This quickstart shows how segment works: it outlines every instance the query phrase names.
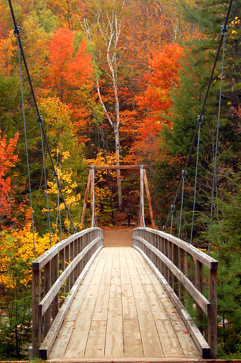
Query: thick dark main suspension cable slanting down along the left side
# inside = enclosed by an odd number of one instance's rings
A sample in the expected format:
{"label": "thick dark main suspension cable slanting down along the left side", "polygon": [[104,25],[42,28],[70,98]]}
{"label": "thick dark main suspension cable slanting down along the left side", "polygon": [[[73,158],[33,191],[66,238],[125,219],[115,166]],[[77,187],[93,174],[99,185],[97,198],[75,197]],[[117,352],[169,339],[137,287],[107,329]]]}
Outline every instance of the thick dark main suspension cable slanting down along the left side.
{"label": "thick dark main suspension cable slanting down along the left side", "polygon": [[[14,21],[14,30],[15,31],[18,31],[18,26],[17,26],[17,23],[16,23],[16,19],[15,19],[15,16],[14,16],[14,9],[13,9],[13,6],[11,4],[11,0],[9,0],[9,6],[10,6],[10,10],[11,10],[11,16],[12,16],[12,19]],[[20,37],[18,38],[19,39],[19,47],[21,49],[21,55],[22,55],[22,58],[23,58],[23,61],[24,61],[24,66],[25,66],[25,69],[26,69],[26,73],[27,73],[27,76],[28,76],[28,80],[29,80],[29,86],[31,88],[31,93],[32,93],[32,96],[33,96],[33,99],[34,99],[34,105],[35,105],[35,108],[36,108],[36,112],[37,112],[37,120],[39,122],[39,125],[41,126],[41,129],[42,129],[42,132],[43,132],[43,139],[44,139],[44,142],[46,143],[46,148],[48,150],[48,155],[49,155],[49,158],[51,160],[51,165],[52,165],[52,168],[53,168],[53,173],[56,173],[56,169],[55,169],[55,166],[54,166],[54,163],[53,163],[53,158],[52,158],[52,155],[51,155],[51,150],[49,148],[49,145],[48,145],[48,140],[46,138],[46,133],[44,131],[44,128],[43,128],[43,117],[40,115],[39,113],[39,107],[38,107],[38,104],[36,102],[36,97],[35,97],[35,93],[34,93],[34,88],[33,88],[33,85],[32,85],[32,82],[31,82],[31,77],[30,77],[30,74],[29,74],[29,68],[28,68],[28,65],[26,63],[26,58],[25,58],[25,55],[24,55],[24,48],[21,44],[21,39]],[[66,200],[64,198],[64,195],[63,195],[63,191],[61,189],[61,184],[58,180],[58,178],[56,179],[57,180],[57,183],[58,183],[58,189],[60,190],[61,192],[61,197],[63,198],[63,203],[66,207]],[[76,232],[76,227],[75,225],[73,225],[73,220],[71,218],[71,215],[68,211],[68,217],[70,218],[71,220],[71,224],[73,226],[73,231]]]}

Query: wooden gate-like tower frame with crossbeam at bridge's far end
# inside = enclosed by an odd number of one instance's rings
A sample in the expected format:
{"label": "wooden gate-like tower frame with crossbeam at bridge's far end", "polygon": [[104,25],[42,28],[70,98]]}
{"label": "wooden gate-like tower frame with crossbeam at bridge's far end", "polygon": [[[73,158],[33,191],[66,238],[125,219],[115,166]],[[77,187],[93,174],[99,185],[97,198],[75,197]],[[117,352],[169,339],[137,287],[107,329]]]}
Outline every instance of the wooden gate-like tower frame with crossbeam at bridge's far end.
{"label": "wooden gate-like tower frame with crossbeam at bridge's far end", "polygon": [[[148,198],[148,206],[149,206],[149,212],[150,212],[150,220],[151,225],[153,229],[155,229],[155,222],[153,219],[153,208],[150,201],[150,192],[148,188],[148,179],[146,177],[145,173],[145,165],[91,165],[88,166],[89,172],[88,172],[88,181],[86,185],[86,195],[85,200],[83,202],[83,212],[81,217],[81,224],[83,225],[83,220],[86,215],[86,207],[87,207],[87,201],[88,201],[88,193],[91,187],[91,210],[93,211],[93,204],[94,204],[94,170],[140,170],[140,205],[144,206],[144,188],[143,183],[145,184],[145,192]],[[91,217],[91,226],[93,227],[93,219],[94,219],[94,213],[92,213]],[[140,208],[140,227],[145,227],[144,222],[144,208]]]}

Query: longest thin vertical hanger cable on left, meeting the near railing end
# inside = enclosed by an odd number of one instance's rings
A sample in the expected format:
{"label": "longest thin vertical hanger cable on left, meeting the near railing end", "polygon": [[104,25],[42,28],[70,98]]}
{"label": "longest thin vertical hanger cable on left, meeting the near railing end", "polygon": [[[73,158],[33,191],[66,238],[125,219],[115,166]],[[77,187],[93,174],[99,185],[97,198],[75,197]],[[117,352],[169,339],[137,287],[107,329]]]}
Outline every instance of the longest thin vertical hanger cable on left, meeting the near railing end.
{"label": "longest thin vertical hanger cable on left, meeting the near railing end", "polygon": [[18,43],[18,54],[19,54],[19,75],[20,75],[20,84],[21,84],[21,101],[23,108],[23,118],[24,118],[24,136],[25,136],[25,148],[26,148],[26,162],[29,176],[29,196],[30,196],[30,206],[31,206],[31,226],[32,226],[32,234],[34,240],[34,257],[36,258],[36,246],[35,246],[35,237],[34,237],[34,213],[33,213],[33,203],[32,203],[32,193],[31,193],[31,179],[30,179],[30,171],[29,171],[29,153],[28,153],[28,143],[27,143],[27,134],[26,134],[26,122],[25,122],[25,112],[24,112],[24,90],[23,90],[23,81],[22,81],[22,73],[21,73],[21,59],[20,59],[20,51],[19,51],[19,36],[20,36],[20,27],[18,26],[14,29],[14,35],[16,36]]}

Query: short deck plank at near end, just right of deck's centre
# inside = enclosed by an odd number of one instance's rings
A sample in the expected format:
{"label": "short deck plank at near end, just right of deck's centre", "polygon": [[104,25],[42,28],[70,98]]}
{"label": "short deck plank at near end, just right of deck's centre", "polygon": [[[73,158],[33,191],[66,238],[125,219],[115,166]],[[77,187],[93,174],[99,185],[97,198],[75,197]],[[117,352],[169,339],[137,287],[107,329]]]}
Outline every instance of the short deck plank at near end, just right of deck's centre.
{"label": "short deck plank at near end, just right of deck's centre", "polygon": [[139,322],[137,319],[123,320],[123,339],[125,357],[144,357]]}

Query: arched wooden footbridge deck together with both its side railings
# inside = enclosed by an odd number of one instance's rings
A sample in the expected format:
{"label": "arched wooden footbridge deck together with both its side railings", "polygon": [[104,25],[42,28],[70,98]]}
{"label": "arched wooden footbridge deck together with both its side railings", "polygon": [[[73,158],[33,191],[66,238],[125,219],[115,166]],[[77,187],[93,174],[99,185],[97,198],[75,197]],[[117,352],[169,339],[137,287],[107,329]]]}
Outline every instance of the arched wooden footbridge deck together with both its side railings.
{"label": "arched wooden footbridge deck together with both its side railings", "polygon": [[[133,230],[132,247],[104,247],[103,237],[101,228],[88,228],[32,262],[33,356],[54,362],[215,359],[217,261],[148,227]],[[207,315],[208,344],[185,310],[188,296],[197,315]]]}

